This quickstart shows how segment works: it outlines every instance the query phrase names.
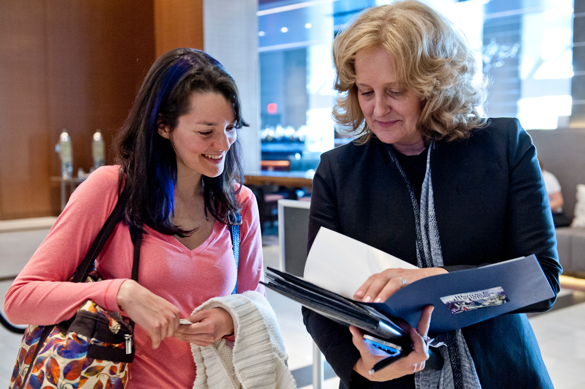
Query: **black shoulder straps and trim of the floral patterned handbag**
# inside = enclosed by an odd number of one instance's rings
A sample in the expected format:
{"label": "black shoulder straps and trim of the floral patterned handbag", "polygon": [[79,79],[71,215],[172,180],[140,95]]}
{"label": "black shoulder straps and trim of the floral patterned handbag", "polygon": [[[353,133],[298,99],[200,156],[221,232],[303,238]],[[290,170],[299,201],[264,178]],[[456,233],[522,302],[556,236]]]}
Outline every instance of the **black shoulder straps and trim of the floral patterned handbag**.
{"label": "black shoulder straps and trim of the floral patterned handbag", "polygon": [[[102,248],[104,248],[106,241],[108,241],[108,238],[110,237],[110,235],[112,235],[112,232],[116,227],[116,224],[118,224],[119,221],[122,220],[122,216],[124,214],[124,210],[126,207],[126,202],[128,201],[128,196],[129,192],[126,187],[118,197],[118,202],[116,203],[116,206],[114,207],[112,213],[106,219],[104,227],[102,227],[102,229],[99,230],[98,236],[95,238],[94,242],[90,246],[90,249],[85,255],[85,258],[77,266],[77,269],[75,269],[75,273],[73,273],[73,279],[71,280],[71,282],[84,282],[87,279],[87,276],[90,274],[91,270],[94,269],[95,259],[98,258],[99,252],[102,251]],[[132,238],[132,243],[134,244],[132,279],[137,281],[138,265],[140,259],[140,244],[142,243],[142,231],[135,234],[135,236]],[[66,320],[64,321],[64,323],[68,321],[69,320]],[[35,353],[33,354],[32,357],[33,361],[39,354],[39,351],[42,348],[44,341],[46,341],[47,336],[49,336],[49,334],[51,333],[51,331],[53,331],[53,328],[55,328],[56,325],[59,324],[46,325],[43,328],[43,332],[40,335],[39,342],[37,342]],[[134,323],[132,321],[130,321],[130,326],[132,327],[132,329],[134,328]],[[30,370],[32,369],[29,369],[29,371],[26,372],[26,376],[23,379],[23,383],[26,383]]]}

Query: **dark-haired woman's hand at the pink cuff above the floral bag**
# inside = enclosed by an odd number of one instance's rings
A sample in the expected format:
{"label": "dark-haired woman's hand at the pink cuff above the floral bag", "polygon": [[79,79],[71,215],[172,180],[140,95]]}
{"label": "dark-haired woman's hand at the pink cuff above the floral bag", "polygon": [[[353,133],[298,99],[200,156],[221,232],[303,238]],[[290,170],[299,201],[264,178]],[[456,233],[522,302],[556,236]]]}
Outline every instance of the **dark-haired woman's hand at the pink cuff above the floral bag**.
{"label": "dark-haired woman's hand at the pink cuff above the floral bag", "polygon": [[179,327],[178,308],[134,280],[122,283],[116,301],[130,319],[148,332],[153,349]]}

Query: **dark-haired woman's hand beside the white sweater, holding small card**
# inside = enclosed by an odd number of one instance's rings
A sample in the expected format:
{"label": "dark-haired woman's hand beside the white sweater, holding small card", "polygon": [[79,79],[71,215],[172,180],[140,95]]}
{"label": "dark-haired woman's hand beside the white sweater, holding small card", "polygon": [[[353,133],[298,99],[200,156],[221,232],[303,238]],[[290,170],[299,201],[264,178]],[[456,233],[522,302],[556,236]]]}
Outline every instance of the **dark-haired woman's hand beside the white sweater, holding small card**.
{"label": "dark-haired woman's hand beside the white sweater, holding small card", "polygon": [[195,312],[186,317],[193,324],[181,324],[174,332],[173,338],[180,341],[195,343],[198,346],[209,346],[211,343],[233,334],[233,320],[228,311],[222,308],[209,308]]}

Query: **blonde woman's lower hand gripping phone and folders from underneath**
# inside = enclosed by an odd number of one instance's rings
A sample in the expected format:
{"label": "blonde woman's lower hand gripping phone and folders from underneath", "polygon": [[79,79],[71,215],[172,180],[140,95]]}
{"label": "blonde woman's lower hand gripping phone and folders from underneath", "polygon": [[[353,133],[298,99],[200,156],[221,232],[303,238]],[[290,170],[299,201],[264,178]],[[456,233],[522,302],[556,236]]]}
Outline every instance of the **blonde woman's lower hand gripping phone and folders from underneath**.
{"label": "blonde woman's lower hand gripping phone and folders from underneath", "polygon": [[428,331],[429,325],[431,324],[433,308],[432,305],[428,305],[422,310],[417,329],[409,327],[409,334],[414,350],[407,356],[398,359],[396,362],[390,364],[390,366],[384,367],[384,369],[376,371],[374,374],[369,373],[370,369],[376,362],[386,358],[388,354],[366,343],[362,332],[358,328],[353,326],[349,327],[349,331],[353,335],[353,344],[361,355],[353,370],[370,381],[388,381],[424,369],[426,360],[429,359]]}

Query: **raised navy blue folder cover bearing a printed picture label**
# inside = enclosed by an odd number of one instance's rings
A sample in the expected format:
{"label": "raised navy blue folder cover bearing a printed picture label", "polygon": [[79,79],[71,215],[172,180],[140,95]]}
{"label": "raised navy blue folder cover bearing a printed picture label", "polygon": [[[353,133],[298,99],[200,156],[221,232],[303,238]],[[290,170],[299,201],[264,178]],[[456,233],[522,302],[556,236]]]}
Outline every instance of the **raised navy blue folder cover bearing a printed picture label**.
{"label": "raised navy blue folder cover bearing a printed picture label", "polygon": [[[486,290],[500,289],[500,304],[490,301],[446,299],[448,296],[471,296]],[[505,298],[501,297],[504,296]],[[369,303],[389,317],[400,318],[417,327],[422,309],[433,305],[429,336],[524,308],[555,296],[536,256],[510,259],[480,268],[457,270],[426,277],[394,293],[384,303]],[[443,301],[441,298],[450,301]],[[467,303],[467,304],[466,304]]]}

